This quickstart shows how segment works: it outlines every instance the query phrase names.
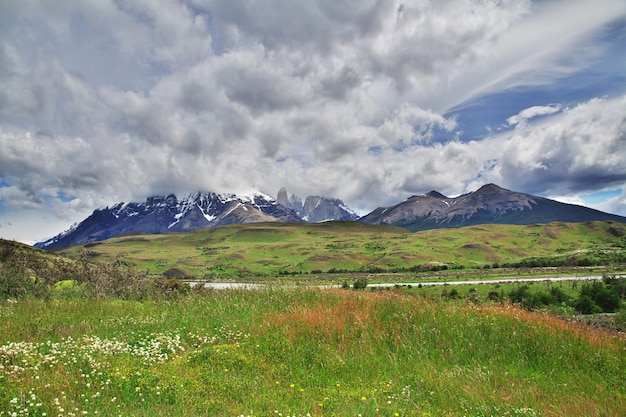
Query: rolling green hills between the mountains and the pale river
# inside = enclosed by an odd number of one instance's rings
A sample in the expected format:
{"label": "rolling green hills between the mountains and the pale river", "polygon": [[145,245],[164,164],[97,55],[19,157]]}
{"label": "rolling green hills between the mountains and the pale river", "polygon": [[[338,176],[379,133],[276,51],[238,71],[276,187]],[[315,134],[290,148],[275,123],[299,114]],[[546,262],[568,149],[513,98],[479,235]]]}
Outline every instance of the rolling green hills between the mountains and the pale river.
{"label": "rolling green hills between the mountains and the pale river", "polygon": [[523,260],[567,265],[626,263],[617,222],[481,225],[410,233],[355,222],[257,223],[164,235],[128,235],[65,248],[118,259],[150,274],[198,279],[322,272],[482,267]]}

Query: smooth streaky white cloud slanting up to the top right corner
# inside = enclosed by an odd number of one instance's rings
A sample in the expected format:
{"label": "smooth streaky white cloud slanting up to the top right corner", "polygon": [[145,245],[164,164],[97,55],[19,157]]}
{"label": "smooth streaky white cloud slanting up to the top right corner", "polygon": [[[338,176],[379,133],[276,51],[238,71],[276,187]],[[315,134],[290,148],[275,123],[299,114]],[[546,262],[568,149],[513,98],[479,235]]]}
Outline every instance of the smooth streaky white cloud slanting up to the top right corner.
{"label": "smooth streaky white cloud slanting up to the top right corner", "polygon": [[[526,3],[530,5],[530,3]],[[465,68],[439,100],[450,109],[494,91],[546,85],[597,59],[601,28],[626,17],[626,3],[606,0],[534,2],[525,18],[495,39],[482,65]]]}

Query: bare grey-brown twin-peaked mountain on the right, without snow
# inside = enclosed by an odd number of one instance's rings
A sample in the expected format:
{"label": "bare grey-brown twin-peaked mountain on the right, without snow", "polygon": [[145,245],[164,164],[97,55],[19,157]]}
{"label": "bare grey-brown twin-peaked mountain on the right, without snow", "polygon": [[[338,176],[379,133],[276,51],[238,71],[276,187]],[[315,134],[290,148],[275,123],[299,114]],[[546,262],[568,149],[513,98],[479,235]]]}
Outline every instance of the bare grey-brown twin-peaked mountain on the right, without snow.
{"label": "bare grey-brown twin-peaked mountain on the right, without snow", "polygon": [[395,206],[379,207],[359,219],[365,224],[390,224],[410,231],[477,224],[595,220],[625,223],[626,217],[510,191],[495,184],[484,185],[474,192],[454,198],[437,191],[414,195]]}

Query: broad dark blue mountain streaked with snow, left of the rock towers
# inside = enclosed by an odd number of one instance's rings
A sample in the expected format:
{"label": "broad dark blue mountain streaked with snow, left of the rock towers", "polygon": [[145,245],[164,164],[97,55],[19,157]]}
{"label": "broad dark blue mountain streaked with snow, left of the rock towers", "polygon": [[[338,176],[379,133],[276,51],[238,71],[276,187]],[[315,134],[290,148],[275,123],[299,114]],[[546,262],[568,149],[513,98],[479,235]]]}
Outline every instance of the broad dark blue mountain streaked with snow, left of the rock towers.
{"label": "broad dark blue mountain streaked with snow, left of the rock towers", "polygon": [[193,193],[149,197],[144,203],[118,203],[95,210],[81,223],[35,244],[54,249],[109,239],[126,233],[184,232],[235,223],[301,222],[291,209],[261,193]]}

